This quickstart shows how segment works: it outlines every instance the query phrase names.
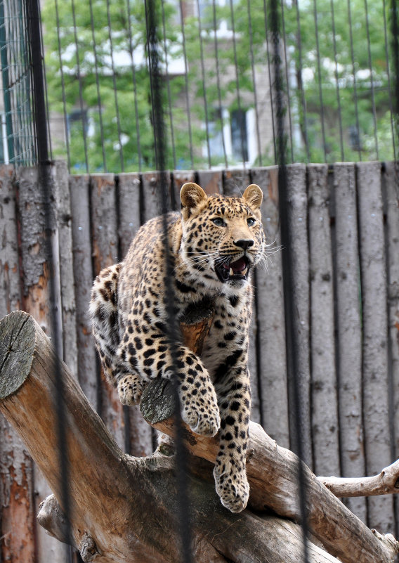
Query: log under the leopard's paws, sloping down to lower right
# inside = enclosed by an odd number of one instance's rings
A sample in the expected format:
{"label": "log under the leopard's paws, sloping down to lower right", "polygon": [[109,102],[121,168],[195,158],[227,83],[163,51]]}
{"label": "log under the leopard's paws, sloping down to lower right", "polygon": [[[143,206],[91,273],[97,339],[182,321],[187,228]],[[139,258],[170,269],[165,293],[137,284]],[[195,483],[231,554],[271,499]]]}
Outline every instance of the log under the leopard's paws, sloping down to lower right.
{"label": "log under the leopard's paws, sloping down to lower right", "polygon": [[[157,408],[158,397],[162,407]],[[166,407],[168,406],[170,410]],[[174,435],[173,398],[167,382],[152,382],[140,404],[145,420],[160,432]],[[160,420],[164,417],[166,420]],[[217,437],[205,438],[185,427],[185,446],[193,455],[214,462],[218,452]],[[273,510],[281,517],[300,522],[298,493],[298,458],[250,422],[247,476],[250,484],[249,507]],[[324,548],[345,563],[393,561],[398,542],[388,534],[377,538],[358,517],[322,484],[306,465],[306,510],[310,533]]]}

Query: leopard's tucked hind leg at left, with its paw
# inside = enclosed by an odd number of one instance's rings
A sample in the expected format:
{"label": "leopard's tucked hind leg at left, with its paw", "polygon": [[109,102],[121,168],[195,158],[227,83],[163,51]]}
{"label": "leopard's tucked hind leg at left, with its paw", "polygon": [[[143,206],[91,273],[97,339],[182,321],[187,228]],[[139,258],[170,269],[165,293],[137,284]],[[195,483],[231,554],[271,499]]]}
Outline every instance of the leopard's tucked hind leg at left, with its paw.
{"label": "leopard's tucked hind leg at left, with its paw", "polygon": [[140,402],[143,384],[136,370],[126,370],[117,355],[117,290],[120,268],[121,264],[114,264],[103,269],[97,276],[91,290],[90,313],[94,342],[105,376],[117,386],[121,403],[132,405]]}

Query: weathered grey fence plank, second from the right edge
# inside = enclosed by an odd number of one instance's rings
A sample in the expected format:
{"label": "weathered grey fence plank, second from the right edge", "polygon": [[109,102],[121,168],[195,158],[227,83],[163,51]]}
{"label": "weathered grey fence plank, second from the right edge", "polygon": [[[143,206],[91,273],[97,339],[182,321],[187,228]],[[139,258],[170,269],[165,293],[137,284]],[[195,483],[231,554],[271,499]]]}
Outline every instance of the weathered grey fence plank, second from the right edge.
{"label": "weathered grey fence plank, second from the right edge", "polygon": [[[363,421],[367,474],[391,462],[388,416],[388,331],[386,255],[381,197],[381,164],[356,166],[362,283]],[[393,499],[367,500],[368,522],[393,533]]]}

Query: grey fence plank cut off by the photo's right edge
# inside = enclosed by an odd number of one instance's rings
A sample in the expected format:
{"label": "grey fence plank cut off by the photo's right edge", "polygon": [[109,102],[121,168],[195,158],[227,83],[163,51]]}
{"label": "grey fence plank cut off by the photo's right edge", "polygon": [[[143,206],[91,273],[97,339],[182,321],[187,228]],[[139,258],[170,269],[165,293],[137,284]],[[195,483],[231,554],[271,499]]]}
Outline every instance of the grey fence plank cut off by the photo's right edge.
{"label": "grey fence plank cut off by the photo's right edge", "polygon": [[[399,457],[399,165],[387,162],[384,179],[386,202],[386,245],[388,267],[388,344],[391,408],[395,437],[394,455]],[[399,505],[396,503],[399,522]]]}

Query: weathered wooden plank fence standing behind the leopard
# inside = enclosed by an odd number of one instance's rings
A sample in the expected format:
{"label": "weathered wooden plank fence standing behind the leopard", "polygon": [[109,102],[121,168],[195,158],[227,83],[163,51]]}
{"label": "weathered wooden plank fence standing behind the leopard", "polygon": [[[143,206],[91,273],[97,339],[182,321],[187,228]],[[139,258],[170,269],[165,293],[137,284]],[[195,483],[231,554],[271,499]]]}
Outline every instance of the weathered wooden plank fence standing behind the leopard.
{"label": "weathered wooden plank fence standing behind the leopard", "polygon": [[[63,355],[119,446],[133,455],[153,448],[137,408],[122,408],[103,379],[87,309],[100,268],[122,259],[140,224],[160,210],[159,174],[68,176],[51,166],[57,248],[55,278]],[[170,174],[171,202],[185,181],[207,193],[265,195],[267,268],[254,276],[251,325],[252,420],[290,447],[292,382],[287,377],[284,295],[277,213],[277,167]],[[301,437],[316,474],[375,474],[399,454],[399,167],[391,162],[287,167],[290,233],[299,337]],[[0,168],[0,317],[25,309],[51,335],[43,253],[44,202],[38,176]],[[38,531],[44,484],[25,448],[0,420],[0,561],[64,562],[65,549]],[[370,527],[398,536],[391,496],[354,498],[348,506]],[[396,511],[396,514],[395,514]],[[23,540],[22,540],[23,538]]]}

